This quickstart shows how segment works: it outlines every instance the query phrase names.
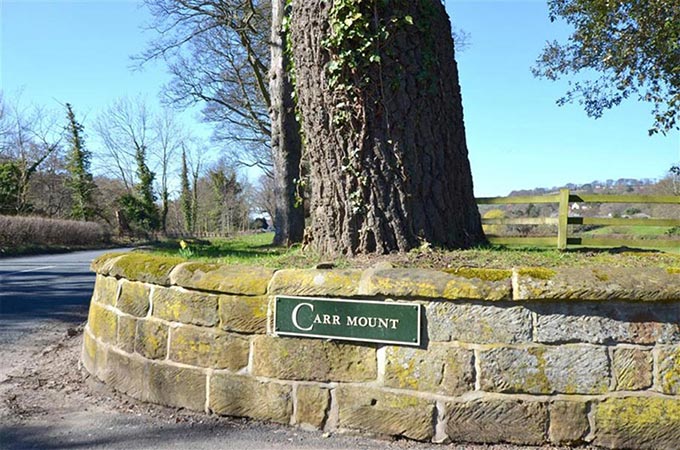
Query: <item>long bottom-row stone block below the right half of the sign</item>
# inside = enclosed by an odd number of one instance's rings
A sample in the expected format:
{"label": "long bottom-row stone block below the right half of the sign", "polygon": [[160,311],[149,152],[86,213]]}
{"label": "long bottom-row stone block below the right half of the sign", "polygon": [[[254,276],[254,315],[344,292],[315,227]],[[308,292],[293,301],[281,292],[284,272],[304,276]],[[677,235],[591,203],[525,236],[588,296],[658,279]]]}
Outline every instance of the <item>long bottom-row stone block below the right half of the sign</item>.
{"label": "long bottom-row stone block below the right half of the sign", "polygon": [[434,435],[435,402],[379,389],[339,386],[338,426],[428,441]]}

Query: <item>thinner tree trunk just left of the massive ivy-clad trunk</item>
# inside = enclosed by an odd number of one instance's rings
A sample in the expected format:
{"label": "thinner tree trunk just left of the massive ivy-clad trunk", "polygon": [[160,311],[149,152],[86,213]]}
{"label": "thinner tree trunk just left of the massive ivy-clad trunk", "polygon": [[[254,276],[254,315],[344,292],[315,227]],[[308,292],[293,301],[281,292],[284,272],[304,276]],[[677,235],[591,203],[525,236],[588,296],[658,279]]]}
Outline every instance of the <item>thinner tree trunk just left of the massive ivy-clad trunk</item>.
{"label": "thinner tree trunk just left of the massive ivy-clad trunk", "polygon": [[271,69],[269,92],[271,107],[271,145],[274,163],[274,245],[289,246],[302,241],[305,228],[304,209],[296,207],[296,185],[300,179],[302,140],[295,120],[293,87],[288,75],[285,52],[285,0],[272,0]]}

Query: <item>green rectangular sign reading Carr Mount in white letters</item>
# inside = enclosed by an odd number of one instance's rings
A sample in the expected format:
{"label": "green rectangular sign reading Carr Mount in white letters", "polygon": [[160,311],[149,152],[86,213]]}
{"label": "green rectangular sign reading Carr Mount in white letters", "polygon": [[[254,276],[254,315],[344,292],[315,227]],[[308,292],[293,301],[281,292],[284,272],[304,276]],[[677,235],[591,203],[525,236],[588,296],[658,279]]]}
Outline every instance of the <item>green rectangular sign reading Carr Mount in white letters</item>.
{"label": "green rectangular sign reading Carr Mount in white letters", "polygon": [[420,345],[420,305],[368,300],[277,296],[274,333]]}

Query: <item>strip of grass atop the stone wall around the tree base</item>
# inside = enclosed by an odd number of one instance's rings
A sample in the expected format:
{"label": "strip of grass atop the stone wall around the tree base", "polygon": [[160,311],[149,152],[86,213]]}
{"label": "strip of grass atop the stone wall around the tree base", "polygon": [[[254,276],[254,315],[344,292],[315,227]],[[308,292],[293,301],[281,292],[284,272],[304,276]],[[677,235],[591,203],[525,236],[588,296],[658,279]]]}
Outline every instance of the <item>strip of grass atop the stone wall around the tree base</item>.
{"label": "strip of grass atop the stone wall around the tree base", "polygon": [[[189,243],[190,260],[215,261],[226,264],[257,265],[271,268],[304,268],[328,261],[300,247],[290,249],[270,245],[271,233],[237,236]],[[154,252],[180,255],[178,241],[155,246]],[[366,268],[387,261],[395,267],[455,269],[481,267],[508,269],[512,267],[680,267],[680,254],[630,249],[577,249],[561,252],[545,248],[508,248],[490,246],[470,250],[417,249],[409,253],[390,255],[360,255],[337,257],[332,262],[339,268]]]}

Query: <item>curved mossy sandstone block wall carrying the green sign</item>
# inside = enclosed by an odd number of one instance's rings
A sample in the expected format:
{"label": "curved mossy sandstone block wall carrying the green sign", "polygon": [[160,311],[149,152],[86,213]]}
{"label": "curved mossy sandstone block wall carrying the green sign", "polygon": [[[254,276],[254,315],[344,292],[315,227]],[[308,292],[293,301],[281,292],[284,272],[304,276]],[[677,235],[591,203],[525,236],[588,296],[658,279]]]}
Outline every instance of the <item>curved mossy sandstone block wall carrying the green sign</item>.
{"label": "curved mossy sandstone block wall carrying the green sign", "polygon": [[[83,363],[142,401],[432,442],[680,448],[680,274],[280,270],[129,254]],[[274,295],[423,305],[420,348],[282,338]]]}

